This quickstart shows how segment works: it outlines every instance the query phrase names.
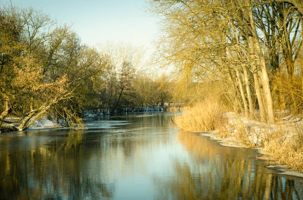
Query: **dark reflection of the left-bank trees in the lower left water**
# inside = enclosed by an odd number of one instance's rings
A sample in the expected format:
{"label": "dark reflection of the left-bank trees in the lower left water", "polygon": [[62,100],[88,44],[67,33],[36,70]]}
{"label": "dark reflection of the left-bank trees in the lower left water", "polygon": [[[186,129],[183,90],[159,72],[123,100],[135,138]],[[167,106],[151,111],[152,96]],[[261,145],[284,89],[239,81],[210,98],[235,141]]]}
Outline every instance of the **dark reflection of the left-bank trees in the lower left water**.
{"label": "dark reflection of the left-bank trees in the lower left water", "polygon": [[0,198],[113,197],[114,184],[106,182],[98,171],[88,171],[89,168],[85,166],[91,155],[83,151],[83,134],[72,130],[63,138],[44,147],[35,147],[33,143],[35,148],[32,149],[26,147],[23,150],[23,146],[13,144],[13,149],[6,146],[7,150],[2,150],[0,154],[0,172],[4,175],[0,179]]}

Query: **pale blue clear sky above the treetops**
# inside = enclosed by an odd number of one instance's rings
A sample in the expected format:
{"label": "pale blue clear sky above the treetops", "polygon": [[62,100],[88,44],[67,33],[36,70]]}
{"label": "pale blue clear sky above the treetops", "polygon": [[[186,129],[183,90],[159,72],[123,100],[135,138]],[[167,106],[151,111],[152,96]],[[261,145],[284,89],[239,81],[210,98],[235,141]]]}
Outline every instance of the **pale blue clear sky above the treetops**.
{"label": "pale blue clear sky above the treetops", "polygon": [[[0,0],[2,4],[10,0]],[[145,0],[12,0],[20,7],[41,9],[60,24],[72,25],[82,42],[130,42],[152,48],[156,17],[144,12]]]}

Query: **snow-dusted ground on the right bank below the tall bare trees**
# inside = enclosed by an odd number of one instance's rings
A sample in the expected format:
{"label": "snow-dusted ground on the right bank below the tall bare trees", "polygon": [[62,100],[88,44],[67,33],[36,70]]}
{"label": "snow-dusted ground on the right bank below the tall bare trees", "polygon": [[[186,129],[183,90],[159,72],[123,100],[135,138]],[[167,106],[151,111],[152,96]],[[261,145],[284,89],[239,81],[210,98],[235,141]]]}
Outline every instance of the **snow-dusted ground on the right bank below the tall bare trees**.
{"label": "snow-dusted ground on the right bank below the tall bare trees", "polygon": [[[281,114],[281,112],[276,113],[276,116],[279,114]],[[284,114],[286,115],[287,113]],[[300,117],[290,115],[282,116],[279,117],[279,120],[276,119],[275,124],[268,124],[239,116],[234,112],[225,113],[225,116],[228,119],[226,128],[230,133],[227,138],[220,138],[219,130],[201,132],[200,135],[217,140],[223,146],[241,148],[256,147],[261,151],[260,153],[262,153],[263,149],[261,147],[264,146],[264,142],[270,135],[279,134],[278,137],[282,138],[281,142],[283,143],[286,141],[295,141],[295,136],[298,134],[302,134],[303,136],[303,121]],[[245,146],[243,141],[240,142],[239,135],[241,134],[246,136],[245,139],[249,140],[247,143],[249,145]],[[266,167],[280,171],[279,174],[303,178],[303,173],[286,169],[286,165],[269,165]]]}

